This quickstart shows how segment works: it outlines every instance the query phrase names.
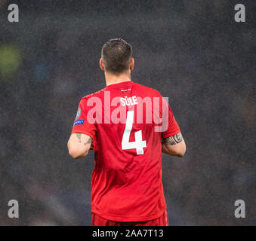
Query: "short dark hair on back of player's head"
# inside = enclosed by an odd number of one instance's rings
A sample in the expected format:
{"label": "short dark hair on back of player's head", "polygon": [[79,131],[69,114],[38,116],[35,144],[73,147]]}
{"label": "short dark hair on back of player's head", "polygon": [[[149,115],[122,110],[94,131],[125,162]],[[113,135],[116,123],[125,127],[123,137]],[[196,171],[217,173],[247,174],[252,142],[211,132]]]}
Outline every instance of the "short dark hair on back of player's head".
{"label": "short dark hair on back of player's head", "polygon": [[101,57],[107,72],[120,74],[129,69],[132,47],[121,38],[110,39],[103,45]]}

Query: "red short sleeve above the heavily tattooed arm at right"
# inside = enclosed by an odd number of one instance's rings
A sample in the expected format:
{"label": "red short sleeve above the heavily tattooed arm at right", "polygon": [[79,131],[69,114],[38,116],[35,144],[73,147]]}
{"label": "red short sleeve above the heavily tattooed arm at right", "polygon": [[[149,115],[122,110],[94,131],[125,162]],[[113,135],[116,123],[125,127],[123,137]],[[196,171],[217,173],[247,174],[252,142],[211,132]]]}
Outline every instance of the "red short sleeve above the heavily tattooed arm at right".
{"label": "red short sleeve above the heavily tattooed arm at right", "polygon": [[162,109],[162,117],[168,119],[166,122],[168,123],[167,130],[162,132],[162,139],[168,138],[169,136],[174,136],[177,133],[180,133],[180,127],[177,124],[177,121],[174,118],[174,114],[171,110],[170,105],[168,105],[168,102],[164,98],[162,98],[163,101],[163,109]]}

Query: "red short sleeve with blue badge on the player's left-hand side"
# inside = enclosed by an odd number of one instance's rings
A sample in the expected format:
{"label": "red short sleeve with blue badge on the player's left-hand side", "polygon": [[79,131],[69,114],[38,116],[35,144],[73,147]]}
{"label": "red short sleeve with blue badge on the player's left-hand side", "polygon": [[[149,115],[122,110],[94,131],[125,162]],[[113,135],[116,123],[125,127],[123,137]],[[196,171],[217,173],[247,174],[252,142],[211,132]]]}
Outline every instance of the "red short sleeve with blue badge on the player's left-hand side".
{"label": "red short sleeve with blue badge on the player's left-hand side", "polygon": [[88,111],[90,106],[87,106],[86,99],[82,99],[79,103],[79,108],[76,113],[76,119],[72,127],[72,133],[83,133],[91,136],[94,139],[96,135],[97,127],[95,123],[91,123],[88,120]]}

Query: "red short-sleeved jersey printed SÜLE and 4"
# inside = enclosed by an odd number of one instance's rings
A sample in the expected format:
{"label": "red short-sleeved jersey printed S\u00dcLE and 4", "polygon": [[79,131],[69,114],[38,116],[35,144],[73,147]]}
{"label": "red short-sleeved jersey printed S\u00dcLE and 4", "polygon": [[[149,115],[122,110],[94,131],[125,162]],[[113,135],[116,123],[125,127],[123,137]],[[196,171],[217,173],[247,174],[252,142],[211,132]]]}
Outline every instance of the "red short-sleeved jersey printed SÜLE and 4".
{"label": "red short-sleeved jersey printed S\u00dcLE and 4", "polygon": [[72,133],[93,139],[92,212],[127,222],[159,218],[165,211],[162,139],[180,128],[163,103],[157,90],[133,81],[82,98]]}

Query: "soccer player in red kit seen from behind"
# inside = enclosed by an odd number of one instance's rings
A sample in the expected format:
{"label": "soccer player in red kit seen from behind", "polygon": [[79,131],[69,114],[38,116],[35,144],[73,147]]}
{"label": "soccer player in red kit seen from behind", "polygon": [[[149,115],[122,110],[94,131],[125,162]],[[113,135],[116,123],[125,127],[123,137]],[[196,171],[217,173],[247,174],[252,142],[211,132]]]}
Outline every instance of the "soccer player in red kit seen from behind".
{"label": "soccer player in red kit seen from behind", "polygon": [[157,90],[131,81],[134,59],[126,41],[103,45],[100,69],[106,88],[81,99],[68,142],[73,158],[94,150],[92,224],[167,226],[162,152],[184,155],[180,128]]}

